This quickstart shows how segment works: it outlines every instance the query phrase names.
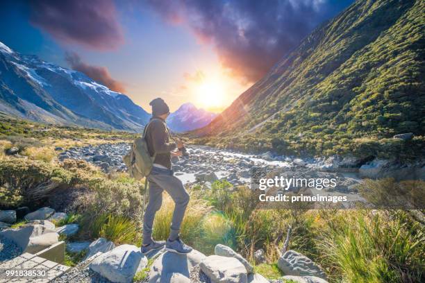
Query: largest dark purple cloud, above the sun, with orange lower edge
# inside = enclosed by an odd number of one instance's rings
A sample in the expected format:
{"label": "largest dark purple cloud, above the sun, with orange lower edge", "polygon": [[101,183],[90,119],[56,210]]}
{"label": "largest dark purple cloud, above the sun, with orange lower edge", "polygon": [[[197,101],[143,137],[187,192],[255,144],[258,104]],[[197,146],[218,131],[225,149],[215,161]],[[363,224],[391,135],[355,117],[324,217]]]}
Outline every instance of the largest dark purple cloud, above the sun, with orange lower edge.
{"label": "largest dark purple cloud, above the sun, with orange lower edge", "polygon": [[225,67],[249,81],[265,75],[317,24],[353,0],[147,0],[167,21],[210,41]]}

